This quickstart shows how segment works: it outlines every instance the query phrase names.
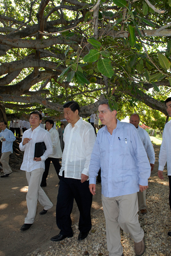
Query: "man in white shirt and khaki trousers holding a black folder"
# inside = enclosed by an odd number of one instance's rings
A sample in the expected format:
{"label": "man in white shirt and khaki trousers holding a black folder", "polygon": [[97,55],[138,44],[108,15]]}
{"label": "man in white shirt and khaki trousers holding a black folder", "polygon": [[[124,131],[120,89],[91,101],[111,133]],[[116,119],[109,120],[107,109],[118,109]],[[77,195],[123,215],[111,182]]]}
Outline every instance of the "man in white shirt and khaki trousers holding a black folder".
{"label": "man in white shirt and khaki trousers holding a black folder", "polygon": [[[28,230],[33,224],[38,200],[44,207],[40,212],[41,215],[53,207],[52,202],[40,186],[44,172],[44,161],[53,152],[50,133],[40,127],[42,115],[38,111],[30,113],[29,122],[31,128],[23,133],[20,143],[20,150],[24,151],[21,170],[25,171],[28,182],[28,192],[26,195],[28,213],[21,231]],[[38,154],[36,152],[41,155],[35,155]]]}

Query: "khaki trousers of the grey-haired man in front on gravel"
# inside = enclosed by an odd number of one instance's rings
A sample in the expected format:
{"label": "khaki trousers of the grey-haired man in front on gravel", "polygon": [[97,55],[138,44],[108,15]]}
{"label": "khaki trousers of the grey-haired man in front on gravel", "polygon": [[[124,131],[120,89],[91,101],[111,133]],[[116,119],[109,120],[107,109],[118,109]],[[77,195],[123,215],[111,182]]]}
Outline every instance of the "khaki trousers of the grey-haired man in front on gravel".
{"label": "khaki trousers of the grey-haired man in front on gravel", "polygon": [[111,198],[102,195],[102,203],[106,219],[109,256],[122,256],[120,227],[124,232],[130,233],[136,243],[144,237],[144,231],[138,221],[137,193]]}

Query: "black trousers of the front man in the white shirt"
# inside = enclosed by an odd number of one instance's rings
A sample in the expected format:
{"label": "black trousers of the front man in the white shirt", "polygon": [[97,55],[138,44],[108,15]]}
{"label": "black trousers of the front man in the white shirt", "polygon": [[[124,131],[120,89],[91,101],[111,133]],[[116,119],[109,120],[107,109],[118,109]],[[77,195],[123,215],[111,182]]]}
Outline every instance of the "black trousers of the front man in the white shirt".
{"label": "black trousers of the front man in the white shirt", "polygon": [[56,223],[63,235],[72,235],[71,212],[74,199],[80,211],[79,231],[89,232],[91,229],[91,204],[92,194],[89,191],[89,182],[81,183],[81,180],[64,178],[60,180],[60,187],[56,205]]}

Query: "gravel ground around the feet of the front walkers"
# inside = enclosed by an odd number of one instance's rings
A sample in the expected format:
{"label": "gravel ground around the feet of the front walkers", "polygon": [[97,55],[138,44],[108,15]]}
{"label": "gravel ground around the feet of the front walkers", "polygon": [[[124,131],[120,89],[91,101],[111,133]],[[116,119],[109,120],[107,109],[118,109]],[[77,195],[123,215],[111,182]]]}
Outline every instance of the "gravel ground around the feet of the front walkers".
{"label": "gravel ground around the feet of the front walkers", "polygon": [[[144,256],[171,256],[171,210],[169,207],[169,179],[164,170],[165,180],[150,177],[147,190],[146,215],[139,215],[145,232],[146,251]],[[46,248],[38,249],[29,256],[108,256],[106,224],[103,208],[92,215],[92,229],[85,240],[78,242],[78,226],[73,227],[74,236],[61,242],[48,242]],[[121,232],[124,256],[135,256],[133,240],[129,234]]]}

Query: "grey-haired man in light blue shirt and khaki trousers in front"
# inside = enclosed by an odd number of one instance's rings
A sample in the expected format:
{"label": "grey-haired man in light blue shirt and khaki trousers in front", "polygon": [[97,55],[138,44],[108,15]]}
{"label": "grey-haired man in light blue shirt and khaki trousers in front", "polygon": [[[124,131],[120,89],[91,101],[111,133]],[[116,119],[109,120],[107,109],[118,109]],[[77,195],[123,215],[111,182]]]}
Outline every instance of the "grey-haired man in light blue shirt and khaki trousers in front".
{"label": "grey-haired man in light blue shirt and khaki trousers in front", "polygon": [[110,110],[107,100],[100,103],[99,118],[105,127],[99,130],[91,154],[89,188],[94,195],[101,167],[109,256],[123,256],[120,227],[130,233],[135,253],[140,256],[145,244],[144,231],[138,221],[137,192],[148,188],[150,163],[135,127],[120,122],[116,114],[116,110]]}

